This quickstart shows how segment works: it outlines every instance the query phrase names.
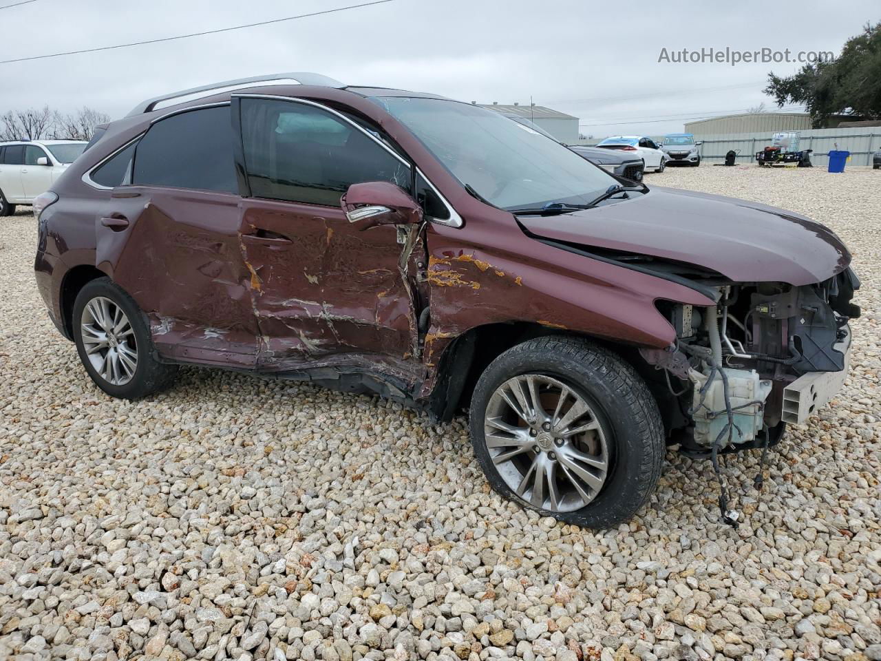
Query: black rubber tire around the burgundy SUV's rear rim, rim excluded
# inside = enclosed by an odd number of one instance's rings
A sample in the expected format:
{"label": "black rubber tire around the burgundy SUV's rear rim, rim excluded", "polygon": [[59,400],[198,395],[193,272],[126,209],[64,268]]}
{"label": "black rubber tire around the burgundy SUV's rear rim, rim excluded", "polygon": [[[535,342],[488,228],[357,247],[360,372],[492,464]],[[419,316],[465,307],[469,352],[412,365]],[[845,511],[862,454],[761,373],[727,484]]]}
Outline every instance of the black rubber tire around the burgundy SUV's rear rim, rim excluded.
{"label": "black rubber tire around the burgundy SUV's rear rim, rim excluded", "polygon": [[[134,331],[134,351],[137,353],[137,365],[134,374],[130,377],[130,381],[121,385],[112,383],[100,375],[85,350],[81,325],[83,310],[89,301],[93,301],[93,299],[98,297],[109,299],[120,308],[125,313],[125,316],[128,317],[131,330]],[[161,390],[165,390],[174,382],[174,376],[177,374],[178,369],[177,366],[159,362],[158,354],[150,336],[150,325],[147,317],[137,307],[134,299],[111,279],[94,279],[80,290],[77,300],[73,304],[71,325],[79,359],[82,361],[85,371],[88,372],[95,385],[104,390],[107,395],[121,399],[148,397]]]}

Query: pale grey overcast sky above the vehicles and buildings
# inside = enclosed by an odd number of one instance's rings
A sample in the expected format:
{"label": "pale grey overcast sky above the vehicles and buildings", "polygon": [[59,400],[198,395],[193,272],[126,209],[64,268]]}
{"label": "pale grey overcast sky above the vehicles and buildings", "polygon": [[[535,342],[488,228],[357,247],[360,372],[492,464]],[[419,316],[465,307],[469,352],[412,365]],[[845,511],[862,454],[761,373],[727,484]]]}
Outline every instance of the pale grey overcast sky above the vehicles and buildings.
{"label": "pale grey overcast sky above the vehicles and buildings", "polygon": [[[0,60],[278,19],[364,0],[36,0],[0,9]],[[0,0],[0,5],[20,0]],[[633,9],[638,7],[638,9]],[[586,0],[392,0],[181,41],[0,64],[0,112],[48,104],[113,117],[139,100],[218,80],[317,71],[344,83],[478,103],[550,106],[581,132],[661,134],[685,118],[743,112],[768,71],[796,63],[659,63],[662,48],[762,47],[836,54],[877,0],[621,4]],[[663,120],[663,121],[653,121]]]}

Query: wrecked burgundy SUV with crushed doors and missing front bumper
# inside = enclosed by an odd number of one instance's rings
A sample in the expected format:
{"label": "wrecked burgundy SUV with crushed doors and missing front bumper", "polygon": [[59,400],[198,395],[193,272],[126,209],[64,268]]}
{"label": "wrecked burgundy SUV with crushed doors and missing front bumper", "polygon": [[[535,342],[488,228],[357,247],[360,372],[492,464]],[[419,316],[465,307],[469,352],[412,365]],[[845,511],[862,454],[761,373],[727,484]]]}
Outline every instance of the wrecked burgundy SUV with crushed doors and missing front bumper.
{"label": "wrecked burgundy SUV with crushed doors and missing front bumper", "polygon": [[36,210],[40,292],[107,394],[193,364],[467,409],[495,489],[591,527],[640,508],[665,445],[715,458],[805,420],[859,315],[810,219],[315,74],[145,101]]}

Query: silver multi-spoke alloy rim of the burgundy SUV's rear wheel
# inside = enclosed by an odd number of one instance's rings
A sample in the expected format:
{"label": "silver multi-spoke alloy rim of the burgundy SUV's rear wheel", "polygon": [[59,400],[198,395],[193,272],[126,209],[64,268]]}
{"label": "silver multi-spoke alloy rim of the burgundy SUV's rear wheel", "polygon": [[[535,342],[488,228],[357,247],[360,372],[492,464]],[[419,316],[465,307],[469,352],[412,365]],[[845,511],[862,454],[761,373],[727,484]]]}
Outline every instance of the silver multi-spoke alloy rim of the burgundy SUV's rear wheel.
{"label": "silver multi-spoke alloy rim of the burgundy SUV's rear wheel", "polygon": [[80,331],[85,355],[95,372],[111,385],[130,382],[137,370],[137,340],[122,308],[96,296],[83,308]]}

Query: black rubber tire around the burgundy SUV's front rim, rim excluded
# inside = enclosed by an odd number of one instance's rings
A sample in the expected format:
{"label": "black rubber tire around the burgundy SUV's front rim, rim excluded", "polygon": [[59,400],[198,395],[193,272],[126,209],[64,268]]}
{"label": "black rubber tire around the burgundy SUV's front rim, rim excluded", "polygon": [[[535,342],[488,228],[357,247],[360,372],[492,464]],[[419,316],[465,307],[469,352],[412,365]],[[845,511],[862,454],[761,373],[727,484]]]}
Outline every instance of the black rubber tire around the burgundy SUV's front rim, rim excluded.
{"label": "black rubber tire around the burgundy SUV's front rim, rim excluded", "polygon": [[[508,486],[485,442],[485,412],[493,392],[516,375],[541,374],[563,382],[589,403],[603,427],[609,469],[586,507],[568,512],[533,507]],[[661,413],[640,375],[617,355],[587,340],[544,337],[508,349],[478,379],[470,405],[471,443],[492,488],[523,507],[569,524],[603,529],[631,518],[655,489],[665,442]]]}

